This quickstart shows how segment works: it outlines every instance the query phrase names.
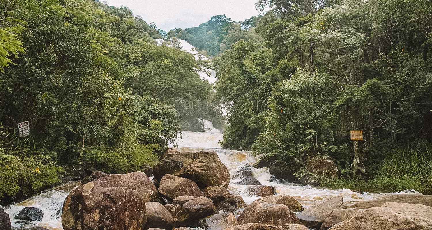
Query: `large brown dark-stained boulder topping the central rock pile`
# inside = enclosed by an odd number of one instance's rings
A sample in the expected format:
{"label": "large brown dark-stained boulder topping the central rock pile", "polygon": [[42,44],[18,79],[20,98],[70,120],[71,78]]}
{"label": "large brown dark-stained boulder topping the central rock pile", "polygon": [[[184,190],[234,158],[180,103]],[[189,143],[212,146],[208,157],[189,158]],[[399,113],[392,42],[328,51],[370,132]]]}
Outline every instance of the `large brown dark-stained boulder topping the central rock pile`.
{"label": "large brown dark-stained boulder topping the central rock pile", "polygon": [[165,174],[193,180],[203,189],[208,186],[228,188],[231,177],[215,151],[178,152],[168,150],[161,161],[153,166],[155,180]]}

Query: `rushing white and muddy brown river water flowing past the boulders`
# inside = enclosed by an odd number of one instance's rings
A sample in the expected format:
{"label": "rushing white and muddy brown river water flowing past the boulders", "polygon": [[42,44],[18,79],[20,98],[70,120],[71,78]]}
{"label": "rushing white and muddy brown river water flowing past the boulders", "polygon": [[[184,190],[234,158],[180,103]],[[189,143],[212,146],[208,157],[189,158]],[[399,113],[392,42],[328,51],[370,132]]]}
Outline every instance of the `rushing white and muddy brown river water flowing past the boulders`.
{"label": "rushing white and muddy brown river water flowing past the boulders", "polygon": [[[186,41],[181,40],[183,44],[183,49],[194,53],[190,44]],[[194,53],[196,54],[196,53]],[[214,75],[210,78],[206,75],[201,76],[202,78],[208,79],[209,82],[214,82],[212,79]],[[220,160],[228,168],[231,175],[238,170],[238,166],[241,164],[254,164],[255,158],[248,151],[235,151],[228,149],[221,149],[219,141],[223,138],[223,133],[218,129],[213,127],[210,121],[204,120],[204,125],[206,126],[206,132],[181,132],[177,139],[178,146],[177,150],[180,151],[199,151],[199,150],[213,150],[216,151]],[[269,169],[264,167],[260,169],[255,169],[252,167],[253,176],[260,181],[263,185],[270,185],[276,187],[277,194],[287,194],[291,195],[297,199],[305,208],[309,208],[316,204],[319,204],[328,198],[334,197],[336,195],[342,195],[344,202],[358,202],[361,200],[367,200],[372,198],[378,198],[383,195],[388,195],[388,193],[368,193],[363,194],[353,192],[349,189],[323,189],[314,186],[302,186],[293,183],[274,183],[269,182],[271,177]],[[246,203],[251,203],[258,197],[251,197],[248,195],[247,188],[248,185],[235,185],[233,183],[238,180],[231,180],[228,189],[235,194],[241,195]],[[80,183],[68,183],[64,186],[60,186],[50,191],[36,195],[24,202],[10,205],[5,208],[5,211],[9,214],[12,219],[13,229],[21,230],[29,227],[41,226],[48,228],[50,230],[63,230],[61,226],[61,214],[60,209],[63,206],[64,199],[77,185]],[[403,191],[402,193],[416,192],[414,190]],[[44,212],[44,217],[42,221],[35,221],[31,225],[17,224],[13,217],[25,207],[36,207]]]}

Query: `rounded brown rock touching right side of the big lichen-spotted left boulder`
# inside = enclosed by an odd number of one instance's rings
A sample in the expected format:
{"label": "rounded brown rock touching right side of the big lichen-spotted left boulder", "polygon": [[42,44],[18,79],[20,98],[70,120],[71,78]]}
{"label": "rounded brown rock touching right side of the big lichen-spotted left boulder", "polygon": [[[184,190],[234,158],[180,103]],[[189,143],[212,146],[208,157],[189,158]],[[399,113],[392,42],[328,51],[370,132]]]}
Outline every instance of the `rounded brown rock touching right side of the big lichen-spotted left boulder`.
{"label": "rounded brown rock touching right side of the big lichen-spotted left boulder", "polygon": [[147,224],[144,229],[162,228],[172,229],[173,217],[171,213],[158,202],[146,203]]}

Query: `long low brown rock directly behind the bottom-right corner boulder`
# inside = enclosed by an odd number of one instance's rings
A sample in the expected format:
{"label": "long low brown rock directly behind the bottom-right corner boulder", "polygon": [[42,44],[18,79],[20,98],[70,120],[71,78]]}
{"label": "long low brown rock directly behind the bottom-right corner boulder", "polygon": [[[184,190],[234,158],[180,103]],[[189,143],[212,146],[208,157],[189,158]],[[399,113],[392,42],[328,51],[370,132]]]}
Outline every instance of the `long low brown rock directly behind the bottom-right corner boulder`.
{"label": "long low brown rock directly behind the bottom-right corner boulder", "polygon": [[392,194],[386,195],[380,198],[357,202],[353,205],[350,205],[348,208],[372,208],[372,207],[381,207],[387,202],[397,202],[397,203],[407,203],[407,204],[418,204],[418,205],[426,205],[432,207],[432,195],[422,195],[422,194]]}

